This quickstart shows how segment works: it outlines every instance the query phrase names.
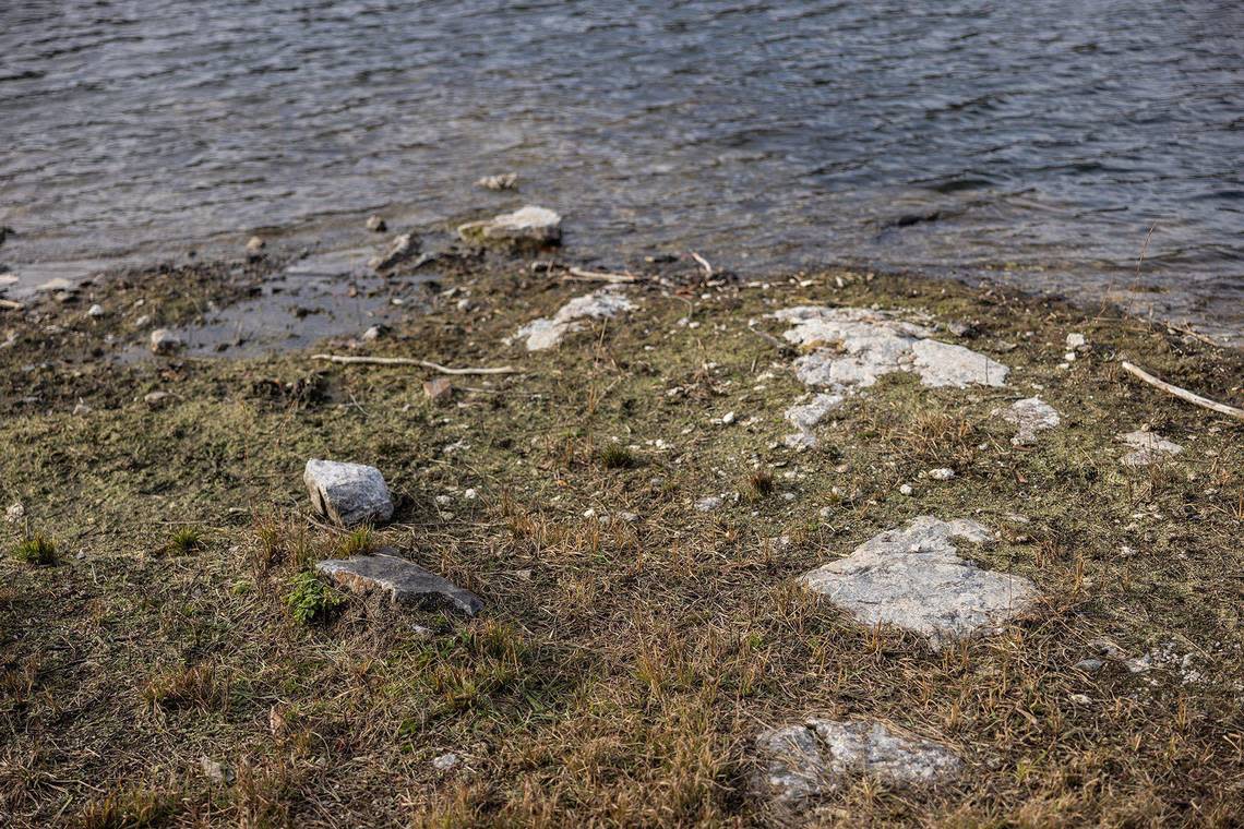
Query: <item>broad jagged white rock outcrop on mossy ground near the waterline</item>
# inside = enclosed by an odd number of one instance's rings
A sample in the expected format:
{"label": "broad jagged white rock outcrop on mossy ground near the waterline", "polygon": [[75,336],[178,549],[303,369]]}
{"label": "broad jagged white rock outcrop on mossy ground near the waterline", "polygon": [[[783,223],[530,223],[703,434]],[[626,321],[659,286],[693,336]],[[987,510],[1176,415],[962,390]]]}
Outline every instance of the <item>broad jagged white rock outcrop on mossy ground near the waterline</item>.
{"label": "broad jagged white rock outcrop on mossy ground near the waterline", "polygon": [[916,372],[924,385],[1005,385],[1008,367],[963,346],[932,339],[929,328],[884,311],[799,306],[773,314],[794,323],[785,338],[809,354],[795,360],[800,382],[853,394],[893,372]]}

